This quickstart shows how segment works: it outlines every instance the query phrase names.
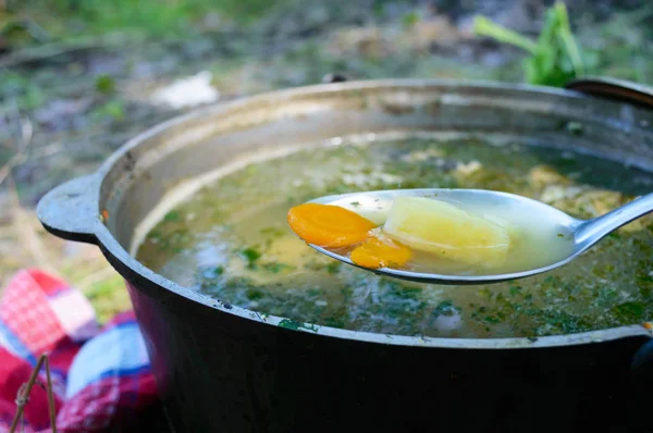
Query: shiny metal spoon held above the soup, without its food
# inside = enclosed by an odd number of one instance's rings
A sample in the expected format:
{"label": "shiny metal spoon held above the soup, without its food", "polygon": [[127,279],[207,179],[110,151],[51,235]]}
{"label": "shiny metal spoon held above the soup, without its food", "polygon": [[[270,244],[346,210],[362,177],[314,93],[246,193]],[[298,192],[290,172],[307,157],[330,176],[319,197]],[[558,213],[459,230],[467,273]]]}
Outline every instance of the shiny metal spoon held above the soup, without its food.
{"label": "shiny metal spoon held above the soup, without its food", "polygon": [[390,202],[393,198],[398,196],[431,197],[449,202],[475,202],[481,207],[486,205],[489,207],[494,207],[495,209],[504,207],[504,212],[538,212],[540,216],[544,215],[545,218],[550,219],[550,221],[559,224],[560,227],[565,227],[566,231],[572,236],[571,252],[566,258],[555,263],[521,272],[488,275],[447,275],[397,270],[391,268],[362,268],[352,262],[352,260],[346,256],[341,256],[313,244],[308,245],[331,258],[360,269],[365,269],[379,275],[386,275],[419,283],[448,285],[491,284],[523,279],[526,276],[547,272],[567,264],[611,232],[653,211],[653,194],[649,194],[602,216],[591,220],[578,220],[541,201],[514,194],[484,189],[392,189],[325,196],[310,200],[310,202],[321,205],[345,205],[344,207],[347,207],[346,203],[364,202],[368,200],[373,202]]}

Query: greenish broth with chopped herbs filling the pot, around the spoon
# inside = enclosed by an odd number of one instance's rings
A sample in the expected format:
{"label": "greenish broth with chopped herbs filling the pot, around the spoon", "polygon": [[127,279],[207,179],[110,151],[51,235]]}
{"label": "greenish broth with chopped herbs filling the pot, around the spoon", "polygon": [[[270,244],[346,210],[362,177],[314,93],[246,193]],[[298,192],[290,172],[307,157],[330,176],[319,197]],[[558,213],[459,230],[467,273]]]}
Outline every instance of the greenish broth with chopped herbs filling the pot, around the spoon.
{"label": "greenish broth with chopped herbs filling the pot, around the spoon", "polygon": [[514,193],[591,218],[652,185],[651,174],[616,162],[507,140],[345,140],[223,175],[168,212],[136,256],[178,284],[301,322],[433,337],[577,333],[653,316],[649,218],[546,274],[486,286],[438,286],[381,277],[330,259],[292,233],[286,213],[331,194],[459,187]]}

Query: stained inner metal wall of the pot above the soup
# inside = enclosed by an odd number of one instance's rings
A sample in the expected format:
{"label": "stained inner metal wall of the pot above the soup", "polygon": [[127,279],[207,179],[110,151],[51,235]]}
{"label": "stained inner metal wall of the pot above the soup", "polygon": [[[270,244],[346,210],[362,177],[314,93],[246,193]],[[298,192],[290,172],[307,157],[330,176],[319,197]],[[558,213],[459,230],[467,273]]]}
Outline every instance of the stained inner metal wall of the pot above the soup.
{"label": "stained inner metal wall of the pot above the soup", "polygon": [[137,138],[138,146],[124,152],[102,182],[103,208],[116,212],[107,226],[130,249],[134,227],[181,183],[251,154],[264,158],[283,147],[319,146],[347,136],[514,136],[533,146],[584,150],[653,168],[645,127],[651,114],[644,110],[521,86],[406,84],[343,84],[261,96],[162,125]]}

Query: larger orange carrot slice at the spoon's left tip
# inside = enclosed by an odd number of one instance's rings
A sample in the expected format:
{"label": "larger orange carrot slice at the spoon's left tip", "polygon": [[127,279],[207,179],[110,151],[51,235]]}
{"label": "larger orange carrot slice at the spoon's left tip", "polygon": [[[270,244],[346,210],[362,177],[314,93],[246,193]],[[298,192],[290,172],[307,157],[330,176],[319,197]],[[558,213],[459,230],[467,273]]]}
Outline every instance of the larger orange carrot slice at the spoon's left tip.
{"label": "larger orange carrot slice at the spoon's left tip", "polygon": [[346,247],[365,240],[375,227],[371,221],[340,206],[305,203],[288,211],[293,232],[320,247]]}

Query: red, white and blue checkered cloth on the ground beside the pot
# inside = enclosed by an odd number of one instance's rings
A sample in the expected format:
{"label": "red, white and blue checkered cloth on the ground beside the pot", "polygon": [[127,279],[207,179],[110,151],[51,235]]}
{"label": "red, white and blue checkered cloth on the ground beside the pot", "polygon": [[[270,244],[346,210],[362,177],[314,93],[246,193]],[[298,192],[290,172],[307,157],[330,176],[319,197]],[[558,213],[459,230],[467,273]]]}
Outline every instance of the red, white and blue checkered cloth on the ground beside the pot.
{"label": "red, white and blue checkered cloth on the ground beside the pot", "polygon": [[[100,329],[78,290],[38,270],[19,272],[0,299],[0,433],[16,396],[48,354],[59,432],[102,432],[157,401],[145,343],[132,311]],[[39,382],[46,384],[45,369]],[[45,387],[34,386],[20,432],[50,432]]]}

